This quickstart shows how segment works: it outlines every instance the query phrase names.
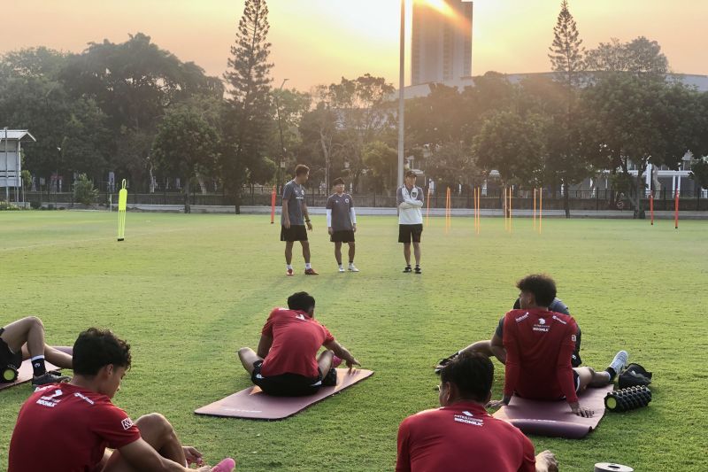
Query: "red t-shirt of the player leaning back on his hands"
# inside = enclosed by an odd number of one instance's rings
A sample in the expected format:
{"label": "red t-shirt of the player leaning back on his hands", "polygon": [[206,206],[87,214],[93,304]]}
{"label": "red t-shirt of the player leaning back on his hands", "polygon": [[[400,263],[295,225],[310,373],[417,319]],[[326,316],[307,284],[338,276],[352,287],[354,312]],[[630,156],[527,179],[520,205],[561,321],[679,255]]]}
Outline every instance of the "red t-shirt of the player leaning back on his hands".
{"label": "red t-shirt of the player leaning back on his hands", "polygon": [[512,310],[504,316],[504,395],[578,401],[571,357],[578,325],[572,316],[547,310]]}

